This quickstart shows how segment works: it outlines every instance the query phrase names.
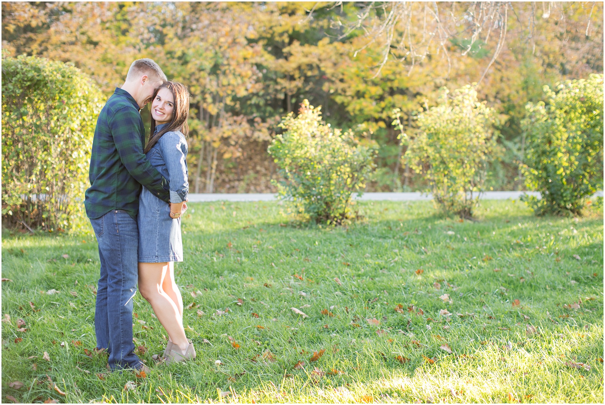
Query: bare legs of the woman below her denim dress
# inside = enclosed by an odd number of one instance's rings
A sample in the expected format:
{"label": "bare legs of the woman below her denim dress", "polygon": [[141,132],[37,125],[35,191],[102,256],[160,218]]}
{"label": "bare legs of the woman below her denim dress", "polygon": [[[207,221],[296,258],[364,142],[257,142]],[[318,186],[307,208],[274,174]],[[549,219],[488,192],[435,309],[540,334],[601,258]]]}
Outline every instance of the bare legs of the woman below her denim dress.
{"label": "bare legs of the woman below her denim dress", "polygon": [[183,317],[177,304],[163,290],[163,279],[169,269],[168,263],[139,263],[139,291],[149,301],[172,343],[186,350],[189,341],[183,329]]}

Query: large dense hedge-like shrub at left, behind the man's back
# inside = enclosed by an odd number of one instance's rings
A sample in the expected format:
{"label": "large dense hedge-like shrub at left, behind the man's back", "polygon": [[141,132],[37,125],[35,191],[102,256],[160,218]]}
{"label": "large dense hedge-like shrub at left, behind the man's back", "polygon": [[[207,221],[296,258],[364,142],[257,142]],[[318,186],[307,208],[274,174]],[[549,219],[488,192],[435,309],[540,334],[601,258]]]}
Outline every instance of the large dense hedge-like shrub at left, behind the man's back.
{"label": "large dense hedge-like shrub at left, behind the man's back", "polygon": [[45,230],[85,218],[102,93],[87,75],[33,56],[2,59],[2,219]]}

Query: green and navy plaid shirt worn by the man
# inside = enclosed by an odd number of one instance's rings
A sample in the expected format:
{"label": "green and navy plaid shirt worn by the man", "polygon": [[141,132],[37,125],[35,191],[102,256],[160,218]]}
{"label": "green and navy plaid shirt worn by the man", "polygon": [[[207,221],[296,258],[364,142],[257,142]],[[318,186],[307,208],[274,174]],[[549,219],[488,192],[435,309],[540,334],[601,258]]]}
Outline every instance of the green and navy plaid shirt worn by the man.
{"label": "green and navy plaid shirt worn by the man", "polygon": [[139,212],[141,185],[170,201],[169,183],[143,153],[145,127],[139,105],[126,90],[116,89],[97,119],[90,159],[90,188],[84,206],[88,218],[111,210]]}

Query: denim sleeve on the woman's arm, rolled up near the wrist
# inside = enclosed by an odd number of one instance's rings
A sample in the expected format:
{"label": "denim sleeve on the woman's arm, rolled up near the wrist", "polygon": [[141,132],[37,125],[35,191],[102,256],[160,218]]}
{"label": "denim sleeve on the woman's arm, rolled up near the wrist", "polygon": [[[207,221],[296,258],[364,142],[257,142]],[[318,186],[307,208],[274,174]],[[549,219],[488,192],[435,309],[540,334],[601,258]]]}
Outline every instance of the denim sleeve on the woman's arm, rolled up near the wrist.
{"label": "denim sleeve on the woman's arm, rolled up near the wrist", "polygon": [[170,178],[170,202],[183,202],[189,193],[187,142],[178,133],[168,132],[160,138],[160,147]]}

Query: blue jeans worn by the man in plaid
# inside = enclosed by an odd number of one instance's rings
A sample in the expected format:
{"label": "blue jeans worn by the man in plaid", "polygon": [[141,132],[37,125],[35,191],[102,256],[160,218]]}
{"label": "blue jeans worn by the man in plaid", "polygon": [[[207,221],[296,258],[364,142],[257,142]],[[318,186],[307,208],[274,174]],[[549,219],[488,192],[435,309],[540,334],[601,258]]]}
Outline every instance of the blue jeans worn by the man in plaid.
{"label": "blue jeans worn by the man in plaid", "polygon": [[140,369],[132,343],[132,307],[137,293],[137,221],[126,211],[111,210],[90,219],[99,242],[101,275],[97,287],[94,330],[97,349],[105,349],[112,370]]}

